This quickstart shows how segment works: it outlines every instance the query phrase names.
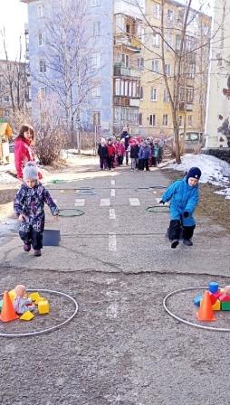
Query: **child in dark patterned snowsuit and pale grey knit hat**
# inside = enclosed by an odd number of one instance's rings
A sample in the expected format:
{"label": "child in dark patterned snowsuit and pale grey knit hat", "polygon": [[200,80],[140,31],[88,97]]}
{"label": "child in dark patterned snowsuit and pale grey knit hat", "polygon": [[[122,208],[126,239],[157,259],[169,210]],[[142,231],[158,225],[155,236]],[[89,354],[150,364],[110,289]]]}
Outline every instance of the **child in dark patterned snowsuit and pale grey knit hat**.
{"label": "child in dark patterned snowsuit and pale grey knit hat", "polygon": [[14,199],[14,212],[20,221],[19,236],[24,241],[24,251],[30,251],[32,245],[34,256],[41,256],[44,203],[47,203],[54,216],[59,214],[59,210],[48,190],[38,182],[38,172],[33,162],[24,166],[23,174],[24,183]]}

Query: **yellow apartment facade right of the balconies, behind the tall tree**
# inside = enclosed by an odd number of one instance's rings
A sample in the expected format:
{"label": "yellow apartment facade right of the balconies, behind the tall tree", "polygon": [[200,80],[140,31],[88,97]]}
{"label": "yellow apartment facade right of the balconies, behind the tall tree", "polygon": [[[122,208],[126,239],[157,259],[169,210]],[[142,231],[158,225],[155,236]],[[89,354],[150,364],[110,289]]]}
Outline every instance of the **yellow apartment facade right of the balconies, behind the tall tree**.
{"label": "yellow apartment facade right of the balconies, behind the tall tree", "polygon": [[[174,134],[168,88],[174,97],[178,52],[185,15],[185,6],[175,1],[166,0],[163,11],[161,7],[158,0],[146,1],[146,19],[142,34],[139,127],[141,134],[153,137],[160,134],[165,136]],[[179,108],[177,108],[177,121],[181,133],[204,131],[211,18],[190,10],[187,21],[179,80]],[[168,88],[164,80],[164,71]]]}

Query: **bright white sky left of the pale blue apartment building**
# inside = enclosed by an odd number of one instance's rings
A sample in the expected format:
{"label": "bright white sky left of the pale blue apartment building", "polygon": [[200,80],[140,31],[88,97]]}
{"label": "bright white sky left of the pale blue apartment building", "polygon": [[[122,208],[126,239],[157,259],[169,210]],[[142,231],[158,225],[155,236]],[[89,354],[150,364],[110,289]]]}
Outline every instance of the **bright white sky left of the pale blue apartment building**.
{"label": "bright white sky left of the pale blue apartment building", "polygon": [[[5,27],[9,59],[14,60],[19,50],[19,37],[24,45],[24,24],[27,23],[27,5],[20,0],[0,0],[0,31]],[[0,59],[5,59],[0,35]]]}

